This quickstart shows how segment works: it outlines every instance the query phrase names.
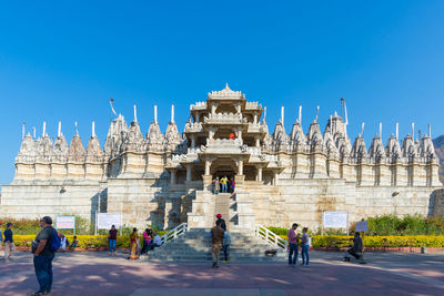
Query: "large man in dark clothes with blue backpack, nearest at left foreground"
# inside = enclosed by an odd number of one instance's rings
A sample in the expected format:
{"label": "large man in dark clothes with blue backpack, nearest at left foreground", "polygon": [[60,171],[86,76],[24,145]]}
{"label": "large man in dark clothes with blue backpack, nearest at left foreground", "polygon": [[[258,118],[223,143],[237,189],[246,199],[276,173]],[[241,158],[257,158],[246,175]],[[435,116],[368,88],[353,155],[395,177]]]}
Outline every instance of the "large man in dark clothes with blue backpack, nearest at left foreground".
{"label": "large man in dark clothes with blue backpack, nearest at left foreground", "polygon": [[[44,295],[51,293],[52,287],[52,261],[56,256],[52,251],[52,241],[57,236],[57,232],[52,228],[52,218],[44,216],[40,221],[42,228],[32,242],[32,253],[34,254],[33,263],[37,280],[40,289],[32,295]],[[58,246],[57,246],[58,247]]]}

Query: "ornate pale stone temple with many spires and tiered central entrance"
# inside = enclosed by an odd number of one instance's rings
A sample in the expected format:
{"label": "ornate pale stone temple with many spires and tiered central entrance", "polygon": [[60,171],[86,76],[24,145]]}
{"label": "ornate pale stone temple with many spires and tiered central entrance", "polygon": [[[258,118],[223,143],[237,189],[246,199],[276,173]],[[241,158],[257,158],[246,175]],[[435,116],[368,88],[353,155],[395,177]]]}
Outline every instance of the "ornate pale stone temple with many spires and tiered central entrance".
{"label": "ornate pale stone temple with many spires and tiered central entrance", "polygon": [[[266,108],[229,85],[190,105],[181,134],[171,121],[163,134],[157,119],[143,136],[134,119],[110,125],[103,149],[94,132],[84,149],[70,144],[59,125],[52,143],[24,135],[16,175],[2,186],[0,215],[37,217],[121,213],[123,223],[170,228],[182,222],[210,227],[222,213],[232,228],[258,224],[320,227],[323,211],[346,211],[350,222],[382,214],[442,215],[443,185],[431,132],[384,146],[382,126],[366,147],[362,134],[347,135],[347,120],[332,114],[323,132],[317,115],[305,133],[302,108],[290,133],[284,109],[270,133]],[[212,180],[235,181],[233,194],[212,193]]]}

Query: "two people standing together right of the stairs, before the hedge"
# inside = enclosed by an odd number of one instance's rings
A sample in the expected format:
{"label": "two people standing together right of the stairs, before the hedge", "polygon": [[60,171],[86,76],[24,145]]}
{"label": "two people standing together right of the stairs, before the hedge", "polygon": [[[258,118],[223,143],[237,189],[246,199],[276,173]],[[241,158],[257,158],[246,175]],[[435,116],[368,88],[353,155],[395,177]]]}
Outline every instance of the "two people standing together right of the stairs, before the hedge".
{"label": "two people standing together right of the stairs, before the hedge", "polygon": [[299,247],[301,247],[301,266],[309,266],[310,255],[309,249],[311,246],[311,237],[309,236],[309,228],[302,228],[301,233],[296,234],[297,223],[293,223],[292,227],[289,229],[289,266],[295,267],[297,263]]}

